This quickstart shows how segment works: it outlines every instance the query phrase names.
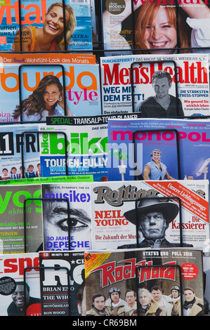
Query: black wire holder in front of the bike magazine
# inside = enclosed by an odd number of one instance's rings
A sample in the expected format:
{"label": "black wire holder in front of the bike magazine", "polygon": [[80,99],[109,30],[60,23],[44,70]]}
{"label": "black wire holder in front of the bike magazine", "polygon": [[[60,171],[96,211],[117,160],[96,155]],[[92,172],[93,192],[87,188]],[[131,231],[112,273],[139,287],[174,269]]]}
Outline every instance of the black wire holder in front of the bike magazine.
{"label": "black wire holder in front of the bike magazine", "polygon": [[[25,166],[24,166],[24,150],[23,150],[23,147],[24,147],[24,136],[25,134],[37,134],[37,145],[39,145],[39,134],[44,134],[45,131],[24,131],[22,132],[21,134],[21,159],[22,159],[22,178],[25,178]],[[51,134],[63,134],[64,136],[64,139],[65,139],[65,176],[68,175],[68,166],[67,166],[67,134],[65,132],[62,132],[62,131],[56,131],[56,132],[48,132],[47,133],[49,135]]]}

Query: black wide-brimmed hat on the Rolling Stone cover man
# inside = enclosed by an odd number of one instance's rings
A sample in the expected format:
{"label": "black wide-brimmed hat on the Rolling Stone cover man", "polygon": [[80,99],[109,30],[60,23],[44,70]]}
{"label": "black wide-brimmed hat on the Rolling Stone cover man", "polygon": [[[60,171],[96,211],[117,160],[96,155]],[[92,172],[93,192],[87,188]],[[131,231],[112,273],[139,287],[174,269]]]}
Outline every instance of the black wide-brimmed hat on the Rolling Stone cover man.
{"label": "black wide-brimmed hat on the Rolling Stone cover man", "polygon": [[[174,202],[166,202],[166,199],[148,196],[137,202],[136,209],[126,211],[124,217],[131,223],[136,224],[136,216],[147,212],[159,211],[164,215],[168,223],[171,223],[178,215],[179,207]],[[138,219],[139,220],[139,219]]]}

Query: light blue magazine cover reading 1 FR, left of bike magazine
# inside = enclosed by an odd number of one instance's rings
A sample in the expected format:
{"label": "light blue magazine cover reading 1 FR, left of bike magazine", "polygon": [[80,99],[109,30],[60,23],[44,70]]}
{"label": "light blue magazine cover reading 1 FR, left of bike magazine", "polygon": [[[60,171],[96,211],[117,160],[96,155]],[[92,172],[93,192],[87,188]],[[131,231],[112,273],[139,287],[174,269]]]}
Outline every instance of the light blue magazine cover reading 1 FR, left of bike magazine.
{"label": "light blue magazine cover reading 1 FR, left of bike magazine", "polygon": [[38,125],[4,125],[0,133],[1,180],[40,176]]}

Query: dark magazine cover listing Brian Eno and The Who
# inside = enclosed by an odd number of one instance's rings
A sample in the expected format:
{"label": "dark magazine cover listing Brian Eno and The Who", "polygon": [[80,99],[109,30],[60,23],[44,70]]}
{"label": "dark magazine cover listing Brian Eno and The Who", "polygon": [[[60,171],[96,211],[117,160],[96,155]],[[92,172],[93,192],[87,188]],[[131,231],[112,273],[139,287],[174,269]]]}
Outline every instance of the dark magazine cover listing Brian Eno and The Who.
{"label": "dark magazine cover listing Brian Eno and The Who", "polygon": [[[84,252],[39,252],[42,316],[81,316]],[[83,303],[83,309],[84,303]]]}

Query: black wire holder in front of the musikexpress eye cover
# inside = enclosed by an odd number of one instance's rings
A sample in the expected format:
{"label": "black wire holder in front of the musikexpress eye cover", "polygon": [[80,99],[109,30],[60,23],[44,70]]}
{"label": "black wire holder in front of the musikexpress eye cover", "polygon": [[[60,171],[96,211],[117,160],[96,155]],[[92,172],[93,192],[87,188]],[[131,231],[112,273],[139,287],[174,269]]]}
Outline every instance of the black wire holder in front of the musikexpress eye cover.
{"label": "black wire holder in front of the musikexpress eye cover", "polygon": [[[24,199],[23,202],[23,223],[24,223],[24,246],[25,246],[25,253],[27,253],[27,230],[26,230],[26,204],[28,201],[41,201],[41,202],[66,202],[67,203],[67,218],[70,219],[70,204],[68,199],[65,198],[26,198]],[[67,223],[67,227],[68,227],[68,246],[71,246],[71,235],[70,235],[70,223],[68,221]],[[42,249],[44,248],[44,244],[42,244],[43,246],[40,246]],[[39,250],[41,251],[41,250]],[[36,252],[39,252],[36,251]]]}

